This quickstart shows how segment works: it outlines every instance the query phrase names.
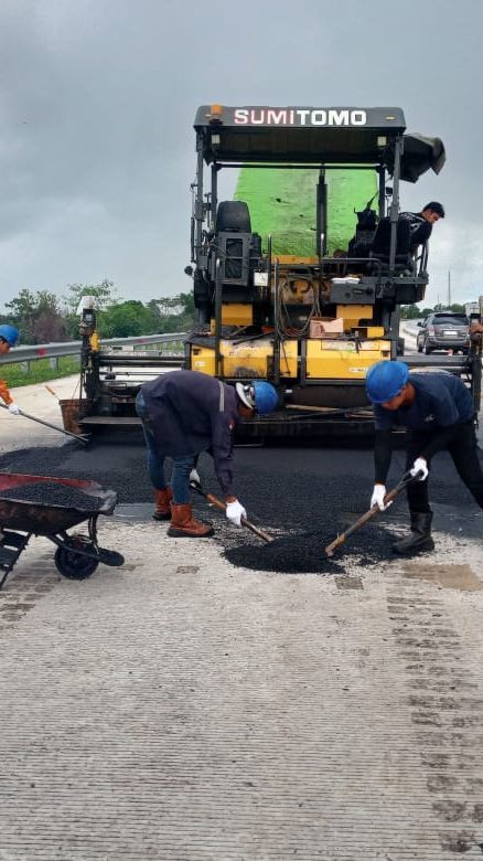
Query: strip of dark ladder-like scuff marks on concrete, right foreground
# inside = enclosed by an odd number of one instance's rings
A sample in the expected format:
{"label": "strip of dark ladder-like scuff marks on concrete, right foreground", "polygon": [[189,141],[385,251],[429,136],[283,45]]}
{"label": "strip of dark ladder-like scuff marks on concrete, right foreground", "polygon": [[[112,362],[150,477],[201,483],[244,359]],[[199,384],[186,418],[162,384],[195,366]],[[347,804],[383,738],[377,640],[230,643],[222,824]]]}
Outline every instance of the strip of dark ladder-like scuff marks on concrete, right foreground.
{"label": "strip of dark ladder-like scuff marks on concrete, right foreground", "polygon": [[444,855],[477,851],[483,846],[483,778],[472,752],[483,744],[479,679],[464,660],[444,602],[417,580],[389,587],[387,608],[404,661],[415,742],[441,823],[441,849]]}

